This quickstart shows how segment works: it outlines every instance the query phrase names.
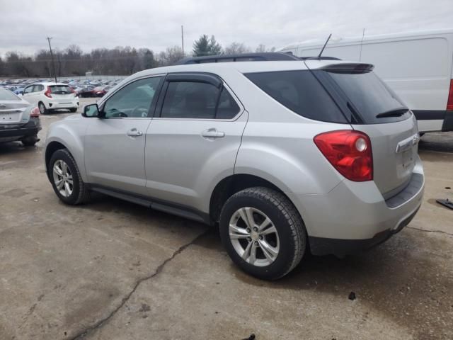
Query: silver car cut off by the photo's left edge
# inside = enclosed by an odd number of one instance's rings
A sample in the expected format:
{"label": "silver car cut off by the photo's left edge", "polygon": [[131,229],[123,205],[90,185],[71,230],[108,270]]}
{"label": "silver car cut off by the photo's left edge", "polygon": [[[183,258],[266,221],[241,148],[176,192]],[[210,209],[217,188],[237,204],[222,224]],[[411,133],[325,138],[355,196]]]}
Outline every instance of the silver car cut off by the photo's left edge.
{"label": "silver car cut off by the photo's left edge", "polygon": [[12,91],[0,88],[0,142],[20,140],[25,147],[38,142],[40,111]]}

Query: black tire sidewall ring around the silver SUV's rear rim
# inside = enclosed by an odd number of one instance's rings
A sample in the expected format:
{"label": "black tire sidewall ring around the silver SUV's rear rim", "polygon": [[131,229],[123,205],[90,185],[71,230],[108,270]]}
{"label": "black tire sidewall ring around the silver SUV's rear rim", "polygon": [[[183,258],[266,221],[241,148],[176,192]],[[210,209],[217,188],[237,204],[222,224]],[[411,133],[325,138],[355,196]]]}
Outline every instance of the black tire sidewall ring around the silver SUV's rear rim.
{"label": "black tire sidewall ring around the silver SUV's rear rim", "polygon": [[[229,238],[229,220],[236,210],[244,207],[256,208],[264,212],[277,229],[278,237],[280,239],[280,251],[277,255],[277,259],[275,259],[275,261],[269,266],[257,267],[247,263],[241,259],[241,256],[239,256],[234,249],[233,244],[231,244],[231,239]],[[222,209],[219,226],[220,237],[226,251],[234,263],[236,263],[247,273],[250,273],[258,278],[273,280],[285,275],[289,267],[292,265],[296,251],[292,230],[289,227],[288,220],[283,212],[270,200],[256,198],[253,196],[232,196],[226,201],[224,208]]]}

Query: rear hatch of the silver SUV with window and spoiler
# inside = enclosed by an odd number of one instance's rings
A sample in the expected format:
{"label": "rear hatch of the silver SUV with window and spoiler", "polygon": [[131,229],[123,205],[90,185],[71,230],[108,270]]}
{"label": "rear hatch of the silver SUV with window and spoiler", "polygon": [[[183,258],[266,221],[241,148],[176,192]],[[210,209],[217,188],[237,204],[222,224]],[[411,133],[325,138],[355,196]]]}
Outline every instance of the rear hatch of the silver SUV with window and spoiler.
{"label": "rear hatch of the silver SUV with window and spoiler", "polygon": [[418,152],[418,128],[411,111],[372,72],[372,65],[330,64],[312,72],[352,128],[369,136],[373,179],[384,198],[403,190],[411,181]]}

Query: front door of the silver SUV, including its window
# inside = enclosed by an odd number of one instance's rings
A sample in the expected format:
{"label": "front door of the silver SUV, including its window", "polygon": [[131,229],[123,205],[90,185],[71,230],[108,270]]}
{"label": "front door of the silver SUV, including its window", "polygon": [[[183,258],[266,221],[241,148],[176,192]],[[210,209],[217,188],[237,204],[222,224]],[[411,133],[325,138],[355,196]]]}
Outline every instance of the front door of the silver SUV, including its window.
{"label": "front door of the silver SUV, including its window", "polygon": [[100,106],[101,118],[86,130],[88,181],[127,193],[146,194],[144,147],[162,77],[126,84]]}

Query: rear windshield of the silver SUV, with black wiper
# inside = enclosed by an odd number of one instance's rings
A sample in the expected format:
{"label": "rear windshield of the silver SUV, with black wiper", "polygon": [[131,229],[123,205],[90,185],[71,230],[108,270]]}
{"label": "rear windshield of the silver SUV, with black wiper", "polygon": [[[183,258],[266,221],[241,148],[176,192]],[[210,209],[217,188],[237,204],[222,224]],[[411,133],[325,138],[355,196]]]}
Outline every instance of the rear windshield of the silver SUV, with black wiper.
{"label": "rear windshield of the silver SUV, with black wiper", "polygon": [[348,101],[353,104],[355,110],[362,118],[363,123],[390,123],[405,120],[411,116],[411,113],[408,112],[396,117],[376,117],[379,113],[405,108],[406,105],[374,72],[327,73],[343,90],[348,97]]}

